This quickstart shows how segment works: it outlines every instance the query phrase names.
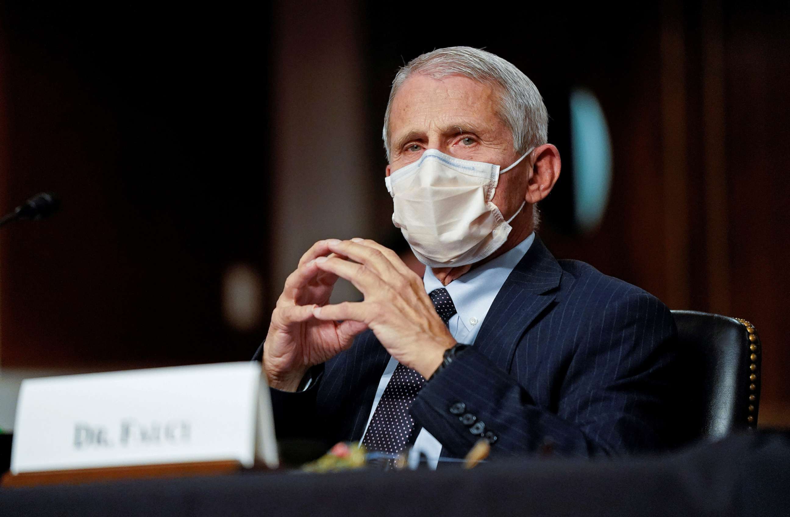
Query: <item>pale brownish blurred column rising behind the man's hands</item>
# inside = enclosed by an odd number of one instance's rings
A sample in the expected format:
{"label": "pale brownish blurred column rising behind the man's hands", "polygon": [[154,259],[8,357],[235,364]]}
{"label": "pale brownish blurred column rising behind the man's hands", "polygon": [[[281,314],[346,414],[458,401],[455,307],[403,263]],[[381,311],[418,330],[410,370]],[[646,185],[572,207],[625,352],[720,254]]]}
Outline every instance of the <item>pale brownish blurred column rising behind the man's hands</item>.
{"label": "pale brownish blurred column rising behind the man's hands", "polygon": [[[322,238],[371,234],[372,170],[359,10],[339,2],[277,2],[273,21],[273,229],[270,295]],[[378,174],[378,175],[377,175]],[[340,283],[333,301],[358,298]]]}

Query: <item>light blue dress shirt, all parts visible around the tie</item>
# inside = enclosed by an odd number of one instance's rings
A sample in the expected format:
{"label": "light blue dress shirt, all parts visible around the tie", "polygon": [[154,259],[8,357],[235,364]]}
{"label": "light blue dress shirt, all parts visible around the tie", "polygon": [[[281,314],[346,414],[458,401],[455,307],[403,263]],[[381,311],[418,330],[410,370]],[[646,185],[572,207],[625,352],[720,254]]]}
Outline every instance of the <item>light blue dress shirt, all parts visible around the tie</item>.
{"label": "light blue dress shirt, all parts visible around the tie", "polygon": [[[525,256],[534,241],[535,233],[533,232],[513,249],[502,253],[499,257],[483,264],[479,268],[474,268],[472,271],[461,275],[461,278],[453,280],[447,286],[442,286],[442,283],[434,276],[431,268],[425,268],[425,275],[423,276],[425,292],[430,293],[434,289],[445,287],[447,292],[450,293],[450,298],[453,298],[453,304],[455,304],[458,312],[447,322],[447,327],[450,328],[450,334],[453,335],[457,343],[468,345],[475,343],[477,332],[480,331],[488,309],[491,309],[491,304],[502,288],[502,284],[505,283],[510,272]],[[398,362],[394,358],[389,358],[389,363],[384,370],[382,379],[378,382],[378,390],[373,400],[371,414],[367,418],[365,433],[367,433],[367,426],[371,425],[371,418],[373,418],[376,406],[378,406],[378,401],[381,400],[382,394],[389,383],[389,378],[392,377],[397,365]],[[360,443],[362,443],[365,433],[359,440]],[[428,433],[426,429],[421,429],[417,435],[411,455],[408,458],[409,466],[412,466],[412,468],[416,467],[417,463],[419,463],[420,453],[427,457],[428,465],[435,469],[439,455],[442,454],[442,444],[431,433]]]}

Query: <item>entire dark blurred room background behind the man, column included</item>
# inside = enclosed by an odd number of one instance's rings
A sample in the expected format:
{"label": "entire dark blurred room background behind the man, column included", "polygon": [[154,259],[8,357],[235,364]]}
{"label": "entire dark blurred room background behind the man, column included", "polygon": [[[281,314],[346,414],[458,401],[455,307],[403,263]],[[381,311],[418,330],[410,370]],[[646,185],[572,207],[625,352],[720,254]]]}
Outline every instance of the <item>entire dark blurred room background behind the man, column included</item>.
{"label": "entire dark blurred room background behind the man, column included", "polygon": [[[672,309],[751,320],[760,422],[790,426],[787,2],[0,9],[0,208],[63,198],[55,218],[0,232],[2,368],[249,358],[315,239],[397,242],[389,84],[422,52],[469,45],[544,95],[564,153],[542,207],[555,255]],[[600,100],[614,150],[603,222],[585,234],[568,217],[575,87]],[[263,279],[243,329],[223,316],[235,264]]]}

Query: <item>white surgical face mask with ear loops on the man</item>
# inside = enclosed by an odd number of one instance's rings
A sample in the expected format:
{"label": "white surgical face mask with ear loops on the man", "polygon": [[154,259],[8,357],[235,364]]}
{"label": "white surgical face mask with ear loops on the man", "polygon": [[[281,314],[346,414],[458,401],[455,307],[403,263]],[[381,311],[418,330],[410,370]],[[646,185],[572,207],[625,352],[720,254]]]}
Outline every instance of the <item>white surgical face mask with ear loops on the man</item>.
{"label": "white surgical face mask with ear loops on the man", "polygon": [[504,170],[493,163],[457,159],[436,149],[385,179],[393,197],[393,223],[417,259],[431,268],[473,264],[507,240],[510,221],[491,200],[499,174],[516,167],[532,148]]}

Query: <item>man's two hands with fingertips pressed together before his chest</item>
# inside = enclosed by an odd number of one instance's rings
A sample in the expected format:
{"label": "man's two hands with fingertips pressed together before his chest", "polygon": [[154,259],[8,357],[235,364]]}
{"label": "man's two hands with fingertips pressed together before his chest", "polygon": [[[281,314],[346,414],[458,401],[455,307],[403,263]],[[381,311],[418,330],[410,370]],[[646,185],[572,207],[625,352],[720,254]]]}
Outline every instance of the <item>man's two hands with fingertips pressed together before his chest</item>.
{"label": "man's two hands with fingertips pressed together before his chest", "polygon": [[[363,302],[326,305],[339,277],[362,292]],[[310,366],[348,349],[367,328],[393,358],[426,378],[455,344],[423,280],[391,249],[360,238],[316,242],[272,313],[263,352],[269,384],[295,391]]]}

